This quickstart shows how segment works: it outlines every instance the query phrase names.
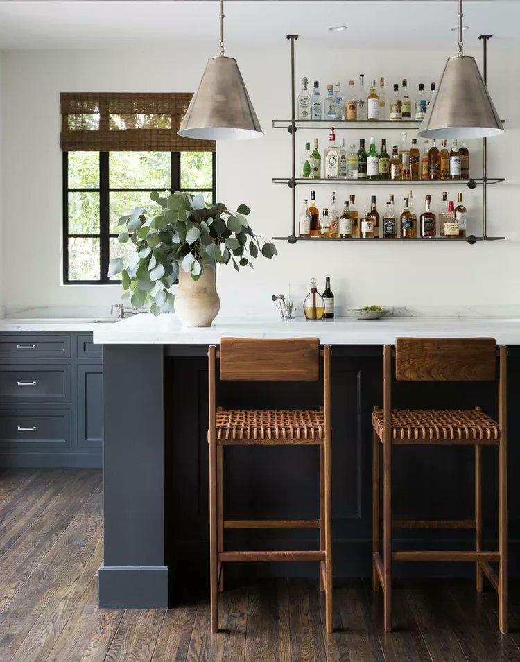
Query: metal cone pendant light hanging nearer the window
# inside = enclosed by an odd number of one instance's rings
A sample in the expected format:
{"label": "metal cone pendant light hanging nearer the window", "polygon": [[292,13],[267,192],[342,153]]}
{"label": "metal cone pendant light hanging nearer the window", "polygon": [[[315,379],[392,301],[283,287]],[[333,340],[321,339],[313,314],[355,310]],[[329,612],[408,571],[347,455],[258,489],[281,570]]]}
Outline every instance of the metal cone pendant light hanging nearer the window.
{"label": "metal cone pendant light hanging nearer the window", "polygon": [[224,0],[220,0],[220,55],[207,61],[179,135],[204,140],[242,140],[263,136],[239,65],[234,58],[224,55]]}

